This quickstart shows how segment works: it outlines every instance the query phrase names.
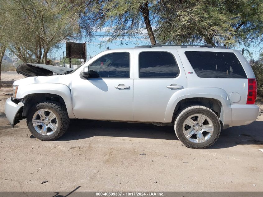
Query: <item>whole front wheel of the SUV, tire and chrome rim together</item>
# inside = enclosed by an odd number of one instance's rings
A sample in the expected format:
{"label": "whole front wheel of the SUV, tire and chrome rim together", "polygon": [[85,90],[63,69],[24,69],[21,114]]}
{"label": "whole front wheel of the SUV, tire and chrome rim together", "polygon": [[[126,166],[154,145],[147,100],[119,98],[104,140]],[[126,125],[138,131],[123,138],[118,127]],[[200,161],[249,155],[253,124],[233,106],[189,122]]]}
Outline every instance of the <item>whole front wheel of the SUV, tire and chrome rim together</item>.
{"label": "whole front wheel of the SUV, tire and chrome rim together", "polygon": [[[45,117],[41,118],[44,115]],[[33,119],[35,125],[33,125]],[[40,102],[29,110],[26,123],[33,136],[43,141],[52,141],[62,136],[68,129],[68,112],[56,101]]]}

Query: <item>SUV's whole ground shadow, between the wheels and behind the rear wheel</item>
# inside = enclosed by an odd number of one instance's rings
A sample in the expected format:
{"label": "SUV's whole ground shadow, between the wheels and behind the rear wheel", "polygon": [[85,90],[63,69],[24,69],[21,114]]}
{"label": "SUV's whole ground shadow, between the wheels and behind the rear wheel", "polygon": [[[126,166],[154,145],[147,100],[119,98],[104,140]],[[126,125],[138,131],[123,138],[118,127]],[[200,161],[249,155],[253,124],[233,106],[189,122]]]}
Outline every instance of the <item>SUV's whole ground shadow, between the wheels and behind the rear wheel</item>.
{"label": "SUV's whole ground shadow, between the wheels and behind the rear wheel", "polygon": [[[221,131],[218,141],[209,149],[228,148],[238,144],[263,145],[263,121],[231,127]],[[68,131],[56,141],[69,141],[94,136],[178,140],[172,126],[123,123],[99,120],[70,120]]]}

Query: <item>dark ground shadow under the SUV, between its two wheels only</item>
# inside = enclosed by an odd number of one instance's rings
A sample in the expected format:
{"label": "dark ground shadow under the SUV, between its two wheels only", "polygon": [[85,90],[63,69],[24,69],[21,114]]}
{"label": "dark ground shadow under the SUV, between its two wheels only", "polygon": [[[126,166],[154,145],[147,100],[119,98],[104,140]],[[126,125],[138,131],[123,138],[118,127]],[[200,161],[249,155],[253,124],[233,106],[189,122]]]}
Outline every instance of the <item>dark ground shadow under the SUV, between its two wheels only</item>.
{"label": "dark ground shadow under the SUV, between its two wheels only", "polygon": [[77,119],[70,120],[68,131],[57,140],[68,141],[93,136],[178,140],[172,126]]}

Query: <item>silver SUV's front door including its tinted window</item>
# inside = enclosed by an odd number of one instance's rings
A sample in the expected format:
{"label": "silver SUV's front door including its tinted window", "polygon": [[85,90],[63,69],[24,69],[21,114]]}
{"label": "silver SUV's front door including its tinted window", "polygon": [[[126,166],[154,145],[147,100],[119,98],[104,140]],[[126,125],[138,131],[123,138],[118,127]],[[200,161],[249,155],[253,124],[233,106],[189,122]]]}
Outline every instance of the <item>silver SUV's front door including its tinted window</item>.
{"label": "silver SUV's front door including its tinted window", "polygon": [[89,77],[72,82],[73,112],[79,119],[133,120],[134,50],[103,52]]}

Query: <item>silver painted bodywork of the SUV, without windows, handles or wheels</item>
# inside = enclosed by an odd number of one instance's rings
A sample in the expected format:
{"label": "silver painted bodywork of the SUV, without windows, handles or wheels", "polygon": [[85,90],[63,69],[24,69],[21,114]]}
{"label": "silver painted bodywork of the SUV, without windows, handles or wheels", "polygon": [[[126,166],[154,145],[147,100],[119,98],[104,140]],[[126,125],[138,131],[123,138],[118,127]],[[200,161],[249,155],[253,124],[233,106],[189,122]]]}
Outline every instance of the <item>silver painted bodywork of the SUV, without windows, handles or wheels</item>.
{"label": "silver painted bodywork of the SUV, without windows, handles or wheels", "polygon": [[[95,59],[104,54],[125,51],[131,54],[129,79],[85,80],[80,78],[83,67],[89,65]],[[179,75],[176,78],[139,78],[138,54],[142,51],[170,52],[176,58],[180,70]],[[222,104],[219,119],[223,124],[237,126],[253,122],[259,108],[256,105],[246,105],[247,79],[200,78],[195,74],[186,58],[185,51],[234,53],[242,63],[247,77],[255,78],[251,66],[238,50],[206,47],[113,49],[97,54],[75,72],[68,75],[27,77],[15,81],[14,85],[19,85],[16,97],[24,98],[26,95],[37,93],[59,95],[65,101],[69,118],[146,122],[171,122],[174,109],[182,99],[214,98]],[[129,85],[131,88],[129,90],[117,90],[114,86],[118,84]],[[167,86],[171,84],[182,85],[184,88],[168,89]],[[109,91],[112,94],[106,97]],[[238,93],[240,99],[232,102],[230,100],[231,93],[235,93],[235,95]],[[7,116],[12,124],[20,106],[17,106],[11,100],[7,101],[7,107],[11,109],[10,112],[7,112]],[[107,113],[105,109],[107,109]],[[73,110],[76,110],[77,116],[74,115]]]}

